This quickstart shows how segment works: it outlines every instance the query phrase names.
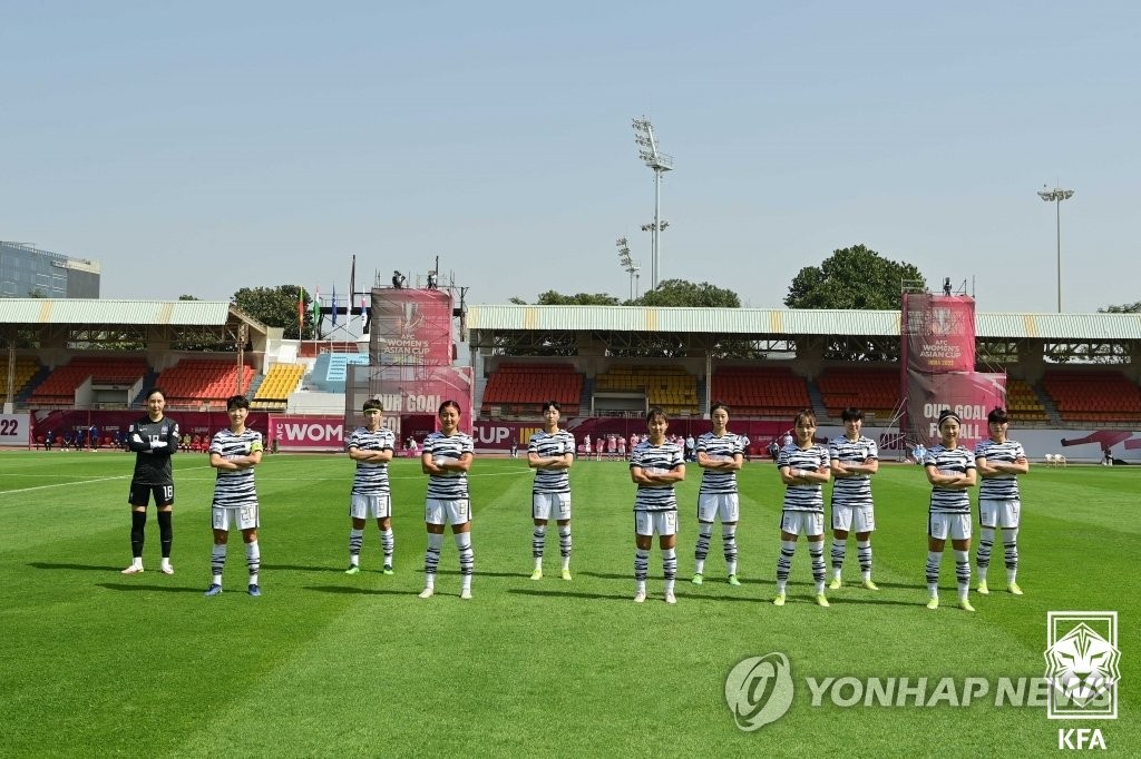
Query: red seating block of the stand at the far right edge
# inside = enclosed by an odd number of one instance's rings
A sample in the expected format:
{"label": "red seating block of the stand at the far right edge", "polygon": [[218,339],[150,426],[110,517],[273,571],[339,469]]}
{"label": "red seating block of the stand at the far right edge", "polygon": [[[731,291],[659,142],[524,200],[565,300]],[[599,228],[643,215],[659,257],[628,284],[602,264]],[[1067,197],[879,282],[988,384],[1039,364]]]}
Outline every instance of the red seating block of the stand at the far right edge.
{"label": "red seating block of the stand at the far right edge", "polygon": [[1141,422],[1141,389],[1120,372],[1046,372],[1042,386],[1066,422]]}

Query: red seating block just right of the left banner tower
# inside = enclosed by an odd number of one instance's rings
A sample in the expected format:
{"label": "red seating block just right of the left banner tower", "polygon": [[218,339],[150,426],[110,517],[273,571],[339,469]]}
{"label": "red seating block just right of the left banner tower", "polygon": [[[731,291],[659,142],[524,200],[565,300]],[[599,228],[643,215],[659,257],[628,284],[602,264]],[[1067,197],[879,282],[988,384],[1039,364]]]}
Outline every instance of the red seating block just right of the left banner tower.
{"label": "red seating block just right of the left banner tower", "polygon": [[500,364],[487,377],[483,415],[537,416],[544,401],[558,401],[563,416],[578,415],[583,376],[568,364]]}

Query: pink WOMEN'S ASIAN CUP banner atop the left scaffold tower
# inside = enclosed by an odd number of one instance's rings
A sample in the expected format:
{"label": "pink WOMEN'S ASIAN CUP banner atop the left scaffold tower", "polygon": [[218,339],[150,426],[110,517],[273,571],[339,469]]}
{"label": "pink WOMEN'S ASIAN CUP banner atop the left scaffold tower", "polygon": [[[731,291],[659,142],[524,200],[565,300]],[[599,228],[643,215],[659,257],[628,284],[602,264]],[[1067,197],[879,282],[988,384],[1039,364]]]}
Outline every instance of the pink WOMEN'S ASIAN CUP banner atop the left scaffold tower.
{"label": "pink WOMEN'S ASIAN CUP banner atop the left scaffold tower", "polygon": [[372,291],[370,352],[385,364],[452,362],[452,296],[443,289]]}

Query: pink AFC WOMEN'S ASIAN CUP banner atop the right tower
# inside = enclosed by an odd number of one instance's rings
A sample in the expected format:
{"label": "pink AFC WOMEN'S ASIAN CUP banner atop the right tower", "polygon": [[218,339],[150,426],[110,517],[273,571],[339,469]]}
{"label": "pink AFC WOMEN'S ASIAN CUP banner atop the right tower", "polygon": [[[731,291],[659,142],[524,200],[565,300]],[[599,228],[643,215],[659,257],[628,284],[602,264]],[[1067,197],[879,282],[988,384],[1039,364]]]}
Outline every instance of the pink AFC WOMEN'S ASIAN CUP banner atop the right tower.
{"label": "pink AFC WOMEN'S ASIAN CUP banner atop the right tower", "polygon": [[905,293],[900,326],[907,370],[974,370],[973,299]]}

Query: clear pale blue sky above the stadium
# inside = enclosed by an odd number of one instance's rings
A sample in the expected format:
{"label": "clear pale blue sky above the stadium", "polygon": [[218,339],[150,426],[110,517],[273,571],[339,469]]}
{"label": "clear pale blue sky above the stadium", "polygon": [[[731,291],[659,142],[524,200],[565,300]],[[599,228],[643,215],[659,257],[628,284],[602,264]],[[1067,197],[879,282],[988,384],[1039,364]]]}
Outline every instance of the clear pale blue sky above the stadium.
{"label": "clear pale blue sky above the stadium", "polygon": [[0,0],[0,239],[104,297],[358,288],[469,303],[661,276],[754,308],[863,243],[982,311],[1141,300],[1135,2]]}

